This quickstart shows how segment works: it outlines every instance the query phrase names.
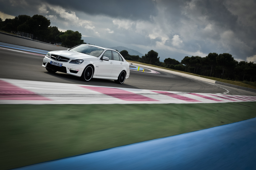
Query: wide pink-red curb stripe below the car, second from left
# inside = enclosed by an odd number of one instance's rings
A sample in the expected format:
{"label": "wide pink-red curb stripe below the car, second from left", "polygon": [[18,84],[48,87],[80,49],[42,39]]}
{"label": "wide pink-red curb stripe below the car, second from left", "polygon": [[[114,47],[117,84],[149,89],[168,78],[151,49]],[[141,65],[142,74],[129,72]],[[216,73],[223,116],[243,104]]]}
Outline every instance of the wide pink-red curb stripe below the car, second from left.
{"label": "wide pink-red curb stripe below the car, second from left", "polygon": [[93,90],[93,91],[97,91],[99,93],[103,93],[105,95],[109,95],[114,98],[122,99],[125,101],[158,101],[158,100],[148,98],[143,95],[132,93],[132,92],[126,91],[126,90],[121,90],[118,88],[89,87],[89,86],[80,86],[80,87],[87,88],[87,89]]}

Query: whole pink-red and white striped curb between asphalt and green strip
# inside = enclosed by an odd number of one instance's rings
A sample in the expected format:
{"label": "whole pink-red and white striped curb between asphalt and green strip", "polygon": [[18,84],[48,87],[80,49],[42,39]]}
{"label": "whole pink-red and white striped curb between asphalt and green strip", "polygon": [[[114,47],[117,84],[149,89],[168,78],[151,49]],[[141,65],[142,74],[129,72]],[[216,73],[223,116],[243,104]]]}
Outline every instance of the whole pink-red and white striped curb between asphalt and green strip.
{"label": "whole pink-red and white striped curb between asphalt and green strip", "polygon": [[0,104],[160,104],[256,101],[256,96],[0,79]]}

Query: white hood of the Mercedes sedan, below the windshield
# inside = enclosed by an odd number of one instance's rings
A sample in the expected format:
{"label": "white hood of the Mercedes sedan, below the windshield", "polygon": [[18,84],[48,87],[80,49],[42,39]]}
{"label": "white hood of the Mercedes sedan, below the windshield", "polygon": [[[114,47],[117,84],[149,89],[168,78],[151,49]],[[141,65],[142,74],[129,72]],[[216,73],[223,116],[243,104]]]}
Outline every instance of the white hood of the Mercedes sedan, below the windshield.
{"label": "white hood of the Mercedes sedan, below the windshield", "polygon": [[89,59],[89,58],[96,59],[97,58],[97,57],[94,57],[91,55],[87,55],[84,53],[78,53],[75,51],[51,51],[50,54],[60,55],[60,56],[67,57],[70,59]]}

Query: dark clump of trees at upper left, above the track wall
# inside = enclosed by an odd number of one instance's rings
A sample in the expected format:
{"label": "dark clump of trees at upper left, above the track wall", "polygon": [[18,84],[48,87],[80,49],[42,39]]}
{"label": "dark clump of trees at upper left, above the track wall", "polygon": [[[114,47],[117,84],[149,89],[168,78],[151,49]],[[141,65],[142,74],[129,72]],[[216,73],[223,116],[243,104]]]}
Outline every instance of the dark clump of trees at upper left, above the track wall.
{"label": "dark clump of trees at upper left, above the track wall", "polygon": [[74,47],[84,43],[82,34],[78,31],[67,30],[62,32],[58,27],[50,26],[50,19],[42,15],[19,15],[13,19],[5,19],[2,21],[0,18],[0,29],[5,32],[17,34],[17,32],[26,32],[33,34],[34,40],[39,40],[47,43],[62,43],[63,47]]}

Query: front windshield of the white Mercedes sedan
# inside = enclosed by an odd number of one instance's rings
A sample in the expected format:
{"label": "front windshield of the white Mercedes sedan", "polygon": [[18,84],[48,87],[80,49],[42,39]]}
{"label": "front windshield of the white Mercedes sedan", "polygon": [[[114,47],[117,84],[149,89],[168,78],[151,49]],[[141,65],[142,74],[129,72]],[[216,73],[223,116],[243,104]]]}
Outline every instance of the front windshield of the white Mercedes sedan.
{"label": "front windshield of the white Mercedes sedan", "polygon": [[70,51],[76,51],[79,53],[84,53],[87,55],[98,57],[104,50],[101,48],[92,47],[89,45],[78,45],[77,47],[70,49]]}

